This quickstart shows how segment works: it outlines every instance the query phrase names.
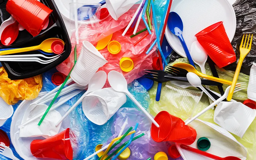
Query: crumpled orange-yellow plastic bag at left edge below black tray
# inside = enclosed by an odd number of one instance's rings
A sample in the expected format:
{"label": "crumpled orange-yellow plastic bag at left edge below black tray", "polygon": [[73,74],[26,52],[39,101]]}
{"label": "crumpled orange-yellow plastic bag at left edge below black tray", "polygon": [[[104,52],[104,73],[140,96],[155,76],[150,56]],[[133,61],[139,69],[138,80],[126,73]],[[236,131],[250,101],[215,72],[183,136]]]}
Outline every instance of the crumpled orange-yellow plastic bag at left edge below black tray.
{"label": "crumpled orange-yellow plastic bag at left edge below black tray", "polygon": [[4,67],[0,68],[0,97],[9,105],[19,100],[35,99],[43,86],[42,75],[31,78],[11,80]]}

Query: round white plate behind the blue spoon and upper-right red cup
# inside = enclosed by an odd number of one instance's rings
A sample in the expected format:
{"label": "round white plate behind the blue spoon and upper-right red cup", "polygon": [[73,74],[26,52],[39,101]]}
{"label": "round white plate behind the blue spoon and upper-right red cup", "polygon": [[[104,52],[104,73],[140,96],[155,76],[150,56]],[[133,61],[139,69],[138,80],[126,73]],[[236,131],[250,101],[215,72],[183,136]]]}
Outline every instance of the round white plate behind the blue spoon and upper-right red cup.
{"label": "round white plate behind the blue spoon and upper-right red cup", "polygon": [[[173,0],[170,12],[178,13],[182,19],[182,35],[189,51],[191,44],[196,41],[195,35],[219,21],[223,21],[230,42],[235,36],[236,13],[228,0]],[[180,40],[168,27],[165,36],[173,50],[186,58]]]}

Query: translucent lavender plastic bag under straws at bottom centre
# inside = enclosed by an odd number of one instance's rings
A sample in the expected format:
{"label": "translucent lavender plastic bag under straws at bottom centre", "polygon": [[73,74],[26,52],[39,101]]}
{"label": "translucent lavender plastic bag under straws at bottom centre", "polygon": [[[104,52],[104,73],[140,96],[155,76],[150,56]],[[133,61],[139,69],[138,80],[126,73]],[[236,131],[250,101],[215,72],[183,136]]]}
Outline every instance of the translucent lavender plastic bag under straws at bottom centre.
{"label": "translucent lavender plastic bag under straws at bottom centre", "polygon": [[[136,108],[121,108],[116,113],[116,119],[111,127],[112,136],[104,143],[103,147],[111,142],[112,139],[116,138],[121,131],[123,124],[125,129],[123,134],[132,126],[134,128],[136,123],[139,123],[136,130],[135,136],[141,133],[145,135],[137,140],[132,141],[131,145],[128,147],[131,150],[131,156],[127,160],[145,160],[151,157],[154,158],[157,152],[165,152],[168,155],[168,148],[171,146],[169,142],[157,143],[152,140],[150,136],[150,127],[152,122],[145,116],[141,111]],[[124,140],[111,150],[110,153],[115,151],[120,145],[128,141],[130,136],[124,138]],[[173,144],[173,143],[172,143]],[[168,156],[169,159],[172,159]],[[177,160],[182,160],[182,157],[177,158]]]}

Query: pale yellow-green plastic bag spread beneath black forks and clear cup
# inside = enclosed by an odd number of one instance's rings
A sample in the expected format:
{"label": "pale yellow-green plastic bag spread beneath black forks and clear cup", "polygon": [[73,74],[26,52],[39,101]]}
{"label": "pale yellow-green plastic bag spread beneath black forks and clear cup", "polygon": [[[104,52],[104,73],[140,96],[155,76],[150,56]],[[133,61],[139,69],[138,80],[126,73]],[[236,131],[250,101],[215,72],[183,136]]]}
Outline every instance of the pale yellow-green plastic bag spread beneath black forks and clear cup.
{"label": "pale yellow-green plastic bag spread beneath black forks and clear cup", "polygon": [[[186,59],[178,59],[175,61],[175,63],[177,62],[185,62],[188,63],[188,60]],[[172,63],[173,64],[173,63]],[[172,65],[171,64],[171,65]],[[200,71],[200,68],[198,66],[196,66],[196,69]],[[206,73],[207,75],[212,75],[209,65],[206,63]],[[234,76],[234,72],[233,71],[227,71],[225,69],[220,69],[217,68],[218,74],[220,76],[220,78],[224,78],[227,80],[232,80],[232,77]],[[238,79],[238,83],[239,82],[246,82],[248,83],[248,79],[249,76],[244,75],[242,73],[240,73],[239,75],[239,79]],[[226,85],[223,85],[224,90],[226,89]],[[195,106],[193,106],[192,104],[190,105],[190,108],[184,108],[183,106],[174,106],[172,104],[172,101],[169,100],[165,100],[163,97],[168,94],[166,86],[163,84],[163,88],[162,88],[162,92],[161,92],[161,99],[159,102],[156,102],[155,98],[156,98],[156,88],[157,88],[157,83],[155,83],[155,85],[153,86],[153,88],[149,91],[149,95],[150,95],[150,114],[152,114],[153,116],[156,116],[157,113],[159,113],[162,110],[166,110],[168,111],[170,114],[180,117],[182,120],[186,120],[189,116],[191,116],[191,112],[193,111],[193,108]],[[189,88],[189,89],[193,89],[193,88]],[[210,89],[213,89],[216,92],[219,92],[217,87],[210,87]],[[237,92],[237,94],[234,94],[235,99],[238,100],[245,100],[247,99],[247,94],[246,91],[243,90],[242,92]],[[201,98],[201,100],[197,103],[196,108],[193,112],[193,116],[195,116],[197,113],[199,113],[200,111],[202,111],[204,108],[206,108],[209,105],[209,100],[208,97],[203,94],[203,97]],[[164,108],[163,106],[168,106],[168,108]],[[206,113],[204,113],[202,116],[199,117],[199,119],[204,120],[206,122],[210,122],[213,124],[213,116],[214,116],[214,110],[210,109],[208,110]],[[250,125],[250,127],[247,129],[247,131],[244,134],[244,137],[241,139],[240,137],[234,135],[234,137],[241,143],[244,145],[244,147],[246,147],[247,150],[247,159],[248,160],[254,160],[256,157],[256,153],[255,153],[255,147],[256,147],[256,120],[254,120],[252,122],[252,124]]]}

